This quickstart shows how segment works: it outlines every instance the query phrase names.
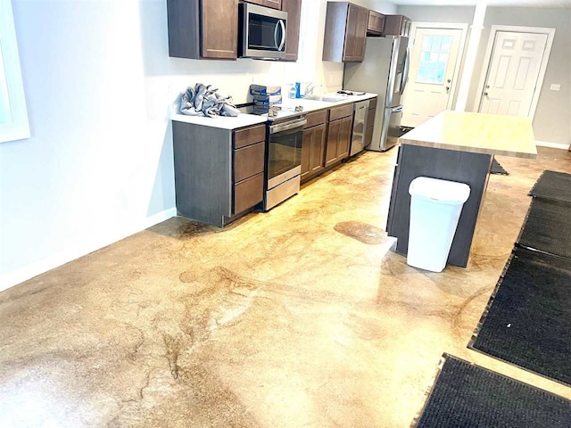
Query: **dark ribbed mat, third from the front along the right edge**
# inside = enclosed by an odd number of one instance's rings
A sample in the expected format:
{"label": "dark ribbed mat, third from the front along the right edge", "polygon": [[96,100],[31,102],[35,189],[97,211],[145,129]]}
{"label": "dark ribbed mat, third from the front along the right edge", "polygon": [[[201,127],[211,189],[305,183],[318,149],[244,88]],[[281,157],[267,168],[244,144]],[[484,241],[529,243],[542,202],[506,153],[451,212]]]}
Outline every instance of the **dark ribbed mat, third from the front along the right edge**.
{"label": "dark ribbed mat, third from the front along the right edge", "polygon": [[571,258],[571,203],[534,198],[517,244]]}

